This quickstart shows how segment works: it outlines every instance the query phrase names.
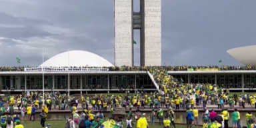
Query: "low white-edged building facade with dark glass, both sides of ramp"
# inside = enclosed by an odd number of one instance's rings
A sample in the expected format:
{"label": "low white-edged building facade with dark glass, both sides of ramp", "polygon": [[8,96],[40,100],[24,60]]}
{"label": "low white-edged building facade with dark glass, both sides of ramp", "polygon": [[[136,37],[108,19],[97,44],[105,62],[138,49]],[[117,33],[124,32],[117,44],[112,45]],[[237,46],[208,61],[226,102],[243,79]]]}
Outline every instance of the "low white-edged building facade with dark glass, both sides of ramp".
{"label": "low white-edged building facade with dark glass, both sides of ramp", "polygon": [[[69,70],[69,71],[68,71]],[[256,71],[168,71],[185,83],[212,83],[230,90],[245,91],[255,87]],[[107,71],[107,69],[65,68],[1,71],[1,91],[118,91],[120,87],[155,91],[146,71]],[[43,79],[44,78],[44,79]]]}

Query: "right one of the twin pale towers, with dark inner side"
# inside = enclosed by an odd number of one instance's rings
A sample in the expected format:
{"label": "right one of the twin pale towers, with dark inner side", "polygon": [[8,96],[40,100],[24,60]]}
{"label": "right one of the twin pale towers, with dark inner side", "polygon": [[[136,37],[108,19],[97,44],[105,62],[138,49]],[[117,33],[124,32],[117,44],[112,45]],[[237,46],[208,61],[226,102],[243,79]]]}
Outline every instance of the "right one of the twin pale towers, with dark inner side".
{"label": "right one of the twin pale towers, with dark inner side", "polygon": [[161,0],[141,0],[141,65],[161,65]]}

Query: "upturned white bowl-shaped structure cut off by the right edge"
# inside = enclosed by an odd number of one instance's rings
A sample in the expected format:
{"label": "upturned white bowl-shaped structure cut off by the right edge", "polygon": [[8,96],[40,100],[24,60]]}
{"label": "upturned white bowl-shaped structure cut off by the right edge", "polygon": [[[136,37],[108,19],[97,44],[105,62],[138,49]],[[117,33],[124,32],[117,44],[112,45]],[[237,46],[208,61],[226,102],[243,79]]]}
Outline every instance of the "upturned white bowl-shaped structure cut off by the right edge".
{"label": "upturned white bowl-shaped structure cut off by the right edge", "polygon": [[256,45],[229,49],[227,53],[243,65],[256,65]]}

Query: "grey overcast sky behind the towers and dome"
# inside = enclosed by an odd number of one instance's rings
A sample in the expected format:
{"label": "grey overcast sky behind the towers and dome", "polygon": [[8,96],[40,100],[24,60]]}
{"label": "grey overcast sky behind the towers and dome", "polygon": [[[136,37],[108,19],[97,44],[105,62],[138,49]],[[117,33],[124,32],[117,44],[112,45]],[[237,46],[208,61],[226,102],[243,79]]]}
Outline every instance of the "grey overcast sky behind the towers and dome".
{"label": "grey overcast sky behind the towers and dome", "polygon": [[[135,0],[135,11],[139,10]],[[0,66],[38,66],[71,50],[114,63],[113,0],[0,0]],[[241,65],[226,51],[256,43],[256,1],[162,0],[162,64]],[[139,31],[135,31],[135,65]]]}

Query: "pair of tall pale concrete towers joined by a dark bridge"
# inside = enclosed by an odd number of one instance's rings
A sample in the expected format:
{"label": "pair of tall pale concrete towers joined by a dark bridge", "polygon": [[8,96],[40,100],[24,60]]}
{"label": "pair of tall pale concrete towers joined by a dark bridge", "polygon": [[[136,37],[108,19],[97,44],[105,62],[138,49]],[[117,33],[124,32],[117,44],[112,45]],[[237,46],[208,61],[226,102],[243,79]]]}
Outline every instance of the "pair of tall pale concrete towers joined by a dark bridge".
{"label": "pair of tall pale concrete towers joined by a dark bridge", "polygon": [[[140,11],[133,11],[140,1]],[[140,30],[141,66],[161,65],[161,0],[114,0],[115,65],[133,66],[133,30]]]}

